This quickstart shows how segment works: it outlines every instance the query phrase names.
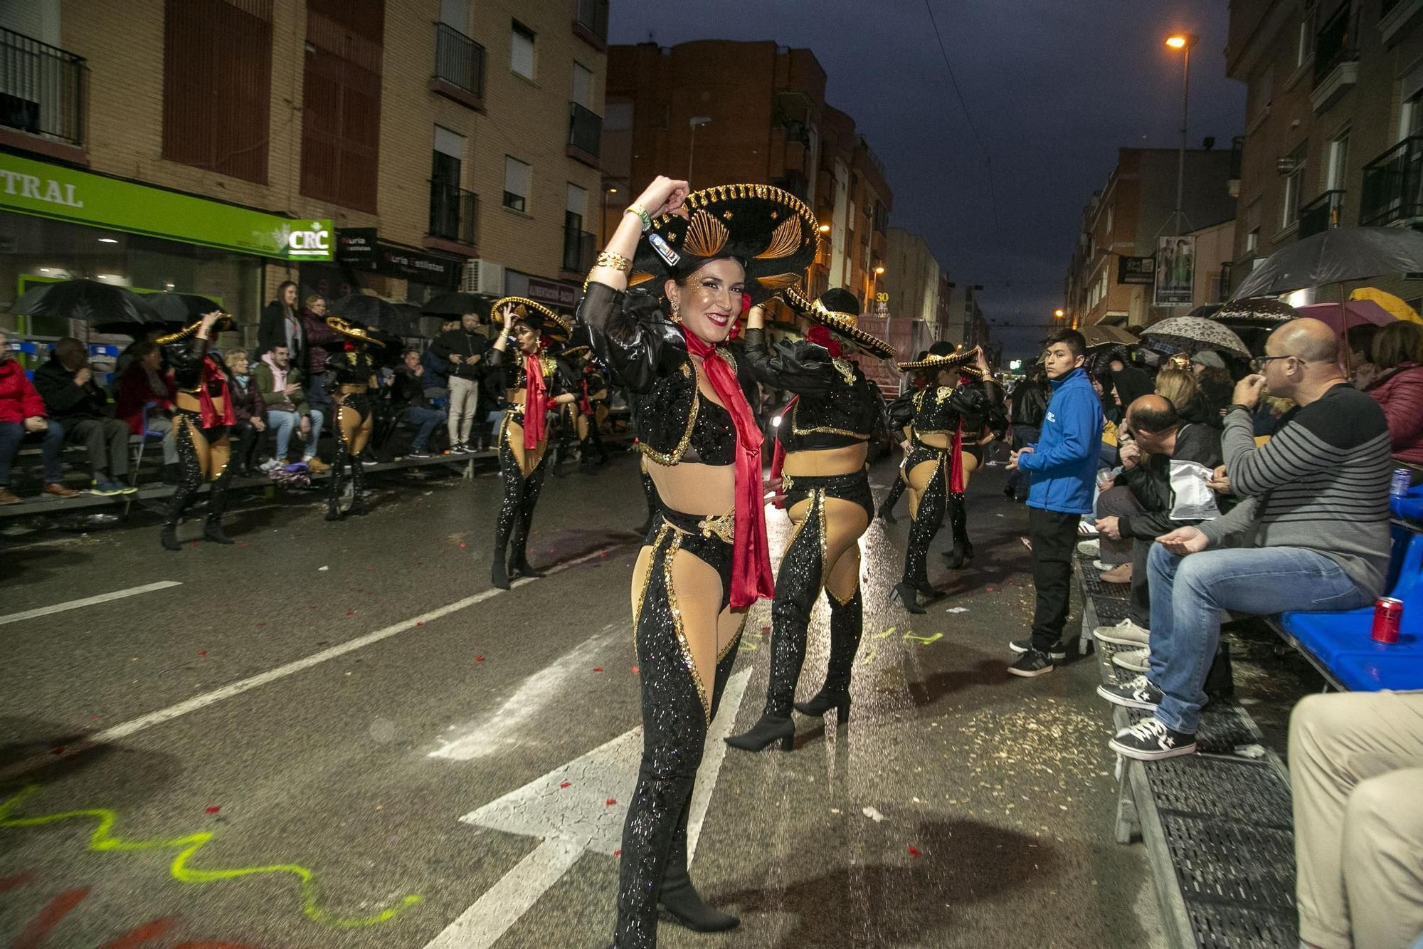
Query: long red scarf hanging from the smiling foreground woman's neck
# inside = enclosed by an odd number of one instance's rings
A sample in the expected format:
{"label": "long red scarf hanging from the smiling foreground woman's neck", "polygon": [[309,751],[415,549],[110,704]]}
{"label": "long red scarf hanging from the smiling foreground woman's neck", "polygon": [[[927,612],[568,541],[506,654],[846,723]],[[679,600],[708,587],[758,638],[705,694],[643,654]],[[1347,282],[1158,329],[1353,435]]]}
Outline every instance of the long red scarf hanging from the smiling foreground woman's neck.
{"label": "long red scarf hanging from the smiling foreground woman's neck", "polygon": [[702,359],[712,390],[736,426],[736,543],[731,553],[731,607],[748,607],[776,596],[770,544],[766,543],[766,506],[761,500],[761,429],[756,425],[736,372],[716,346],[683,328],[687,352]]}

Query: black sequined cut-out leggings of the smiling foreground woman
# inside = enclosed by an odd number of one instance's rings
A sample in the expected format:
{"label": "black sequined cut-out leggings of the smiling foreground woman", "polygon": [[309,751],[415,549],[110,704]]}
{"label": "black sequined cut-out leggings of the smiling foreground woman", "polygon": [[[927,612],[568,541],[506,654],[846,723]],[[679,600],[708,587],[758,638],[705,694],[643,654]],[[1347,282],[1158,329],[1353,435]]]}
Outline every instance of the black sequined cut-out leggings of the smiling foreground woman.
{"label": "black sequined cut-out leggings of the smiling foreground woman", "polygon": [[[702,748],[741,641],[741,630],[737,628],[717,655],[716,675],[707,694],[693,661],[683,617],[716,624],[730,601],[731,544],[712,527],[703,527],[713,520],[662,509],[643,549],[645,553],[650,549],[650,556],[640,596],[633,606],[642,681],[642,765],[623,824],[618,923],[613,930],[616,949],[653,949],[657,945],[657,893],[669,868],[686,868],[687,811]],[[679,553],[692,554],[717,571],[721,579],[720,603],[710,598],[702,601],[699,594],[704,590],[676,588],[673,563]]]}

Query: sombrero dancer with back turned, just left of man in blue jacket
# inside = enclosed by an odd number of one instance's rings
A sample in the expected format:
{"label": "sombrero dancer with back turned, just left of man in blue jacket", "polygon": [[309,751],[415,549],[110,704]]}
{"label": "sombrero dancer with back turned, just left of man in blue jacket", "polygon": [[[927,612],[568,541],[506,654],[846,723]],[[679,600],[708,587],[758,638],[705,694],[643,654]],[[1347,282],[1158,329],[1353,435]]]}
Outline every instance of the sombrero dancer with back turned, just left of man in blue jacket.
{"label": "sombrero dancer with back turned, just left of man in blue jacket", "polygon": [[[945,510],[952,514],[955,544],[962,544],[963,556],[951,560],[959,567],[973,556],[968,544],[963,492],[968,479],[983,459],[978,436],[990,426],[1002,430],[1006,423],[1003,399],[998,385],[988,379],[983,351],[955,349],[938,342],[929,355],[916,362],[899,363],[901,369],[931,369],[936,372],[933,385],[895,399],[889,406],[889,420],[895,430],[904,430],[908,445],[899,476],[909,490],[909,543],[904,554],[904,576],[895,584],[895,596],[909,613],[924,613],[918,594],[933,594],[925,563],[929,544],[943,524]],[[968,437],[965,437],[968,436]]]}

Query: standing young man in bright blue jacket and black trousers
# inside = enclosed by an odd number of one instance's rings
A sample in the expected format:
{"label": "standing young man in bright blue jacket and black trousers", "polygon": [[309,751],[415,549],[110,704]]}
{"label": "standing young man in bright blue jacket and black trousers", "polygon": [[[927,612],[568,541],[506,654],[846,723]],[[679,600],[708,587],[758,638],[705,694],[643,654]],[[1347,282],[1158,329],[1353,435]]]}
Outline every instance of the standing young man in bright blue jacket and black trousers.
{"label": "standing young man in bright blue jacket and black trousers", "polygon": [[1032,640],[1012,643],[1022,653],[1007,671],[1033,677],[1053,671],[1072,594],[1072,554],[1077,523],[1091,513],[1091,487],[1101,442],[1101,400],[1091,388],[1083,356],[1087,341],[1076,329],[1059,329],[1046,339],[1043,368],[1052,385],[1047,415],[1037,445],[1009,457],[1007,469],[1027,472],[1027,537],[1033,544]]}

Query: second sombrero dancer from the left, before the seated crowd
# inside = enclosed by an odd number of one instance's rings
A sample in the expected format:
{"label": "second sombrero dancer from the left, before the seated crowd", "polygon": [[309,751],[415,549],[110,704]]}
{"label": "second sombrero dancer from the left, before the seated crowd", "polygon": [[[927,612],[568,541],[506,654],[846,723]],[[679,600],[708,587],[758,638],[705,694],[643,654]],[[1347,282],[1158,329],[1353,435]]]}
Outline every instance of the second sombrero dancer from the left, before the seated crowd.
{"label": "second sombrero dancer from the left, before the seated crowd", "polygon": [[346,462],[351,466],[351,514],[366,513],[366,472],[360,455],[370,442],[376,427],[371,392],[379,389],[377,365],[371,346],[384,346],[367,329],[349,323],[340,316],[327,316],[326,325],[346,338],[342,352],[326,358],[326,382],[333,388],[336,405],[336,462],[332,465],[332,493],[326,502],[326,520],[340,520],[342,489],[344,487]]}

